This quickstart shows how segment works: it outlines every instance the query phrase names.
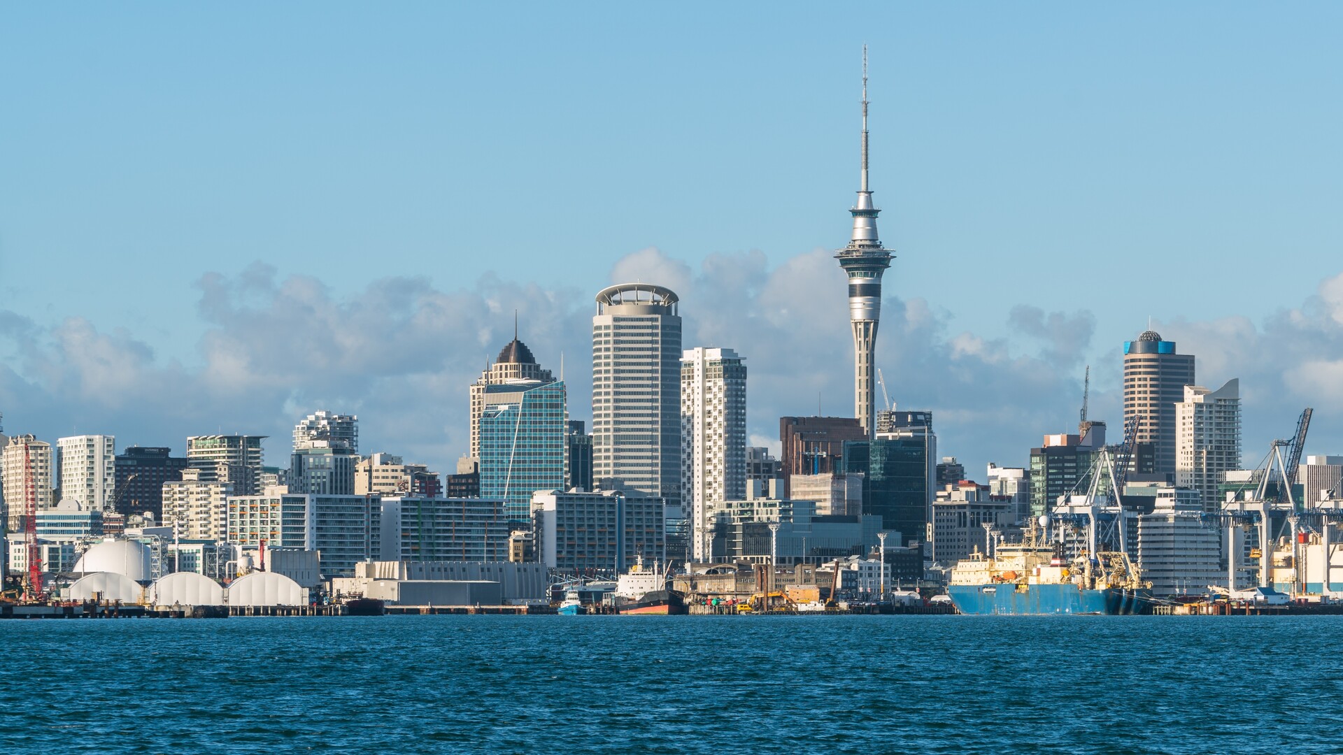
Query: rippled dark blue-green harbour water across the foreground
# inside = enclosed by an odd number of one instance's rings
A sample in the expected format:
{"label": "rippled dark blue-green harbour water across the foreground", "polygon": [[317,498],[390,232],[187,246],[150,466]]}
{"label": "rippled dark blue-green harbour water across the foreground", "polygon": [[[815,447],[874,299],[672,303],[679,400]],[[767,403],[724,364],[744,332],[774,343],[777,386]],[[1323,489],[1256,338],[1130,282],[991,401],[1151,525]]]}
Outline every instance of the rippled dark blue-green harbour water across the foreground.
{"label": "rippled dark blue-green harbour water across the foreground", "polygon": [[0,622],[0,752],[1343,752],[1343,617]]}

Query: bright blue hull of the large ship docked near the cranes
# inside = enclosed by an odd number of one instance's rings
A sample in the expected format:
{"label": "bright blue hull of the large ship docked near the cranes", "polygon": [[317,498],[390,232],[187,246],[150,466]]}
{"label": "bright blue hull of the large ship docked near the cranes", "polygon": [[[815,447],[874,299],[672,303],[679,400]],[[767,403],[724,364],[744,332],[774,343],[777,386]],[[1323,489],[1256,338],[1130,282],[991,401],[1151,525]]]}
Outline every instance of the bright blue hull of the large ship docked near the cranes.
{"label": "bright blue hull of the large ship docked near the cranes", "polygon": [[1082,590],[1065,584],[952,584],[947,595],[963,614],[1129,615],[1152,610],[1148,590]]}

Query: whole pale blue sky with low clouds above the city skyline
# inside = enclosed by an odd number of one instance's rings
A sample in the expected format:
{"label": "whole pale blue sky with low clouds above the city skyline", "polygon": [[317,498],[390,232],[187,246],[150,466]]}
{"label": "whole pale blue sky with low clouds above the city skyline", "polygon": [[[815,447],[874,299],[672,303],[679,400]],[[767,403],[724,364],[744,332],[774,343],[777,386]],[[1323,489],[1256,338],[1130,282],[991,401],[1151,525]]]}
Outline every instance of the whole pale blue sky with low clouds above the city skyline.
{"label": "whole pale blue sky with low clouds above the city skyline", "polygon": [[[1343,453],[1336,3],[0,7],[0,411],[118,449],[360,415],[450,472],[512,337],[591,415],[592,296],[672,286],[752,442],[851,414],[861,48],[890,399],[983,477],[1120,425],[1148,324],[1245,461]],[[878,396],[880,400],[880,396]]]}

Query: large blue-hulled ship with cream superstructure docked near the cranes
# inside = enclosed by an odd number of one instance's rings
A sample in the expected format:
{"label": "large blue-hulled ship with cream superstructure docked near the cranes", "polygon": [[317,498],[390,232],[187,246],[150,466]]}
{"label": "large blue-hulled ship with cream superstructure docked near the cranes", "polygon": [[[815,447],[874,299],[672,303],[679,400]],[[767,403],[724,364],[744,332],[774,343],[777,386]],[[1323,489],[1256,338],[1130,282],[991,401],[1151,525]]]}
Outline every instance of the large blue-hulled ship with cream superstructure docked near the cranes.
{"label": "large blue-hulled ship with cream superstructure docked near the cranes", "polygon": [[947,595],[963,614],[1147,614],[1151,584],[1123,552],[1082,555],[1066,563],[1038,537],[1034,523],[1021,543],[978,551],[951,570]]}

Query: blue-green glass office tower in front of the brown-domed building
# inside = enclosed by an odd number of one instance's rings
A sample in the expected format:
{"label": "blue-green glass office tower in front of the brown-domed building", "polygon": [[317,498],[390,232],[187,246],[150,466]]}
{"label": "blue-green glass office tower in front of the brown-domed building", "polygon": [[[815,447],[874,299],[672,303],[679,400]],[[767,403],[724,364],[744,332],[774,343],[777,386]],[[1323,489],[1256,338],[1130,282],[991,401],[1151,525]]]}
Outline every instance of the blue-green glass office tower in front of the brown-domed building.
{"label": "blue-green glass office tower in front of the brown-domed building", "polygon": [[481,497],[505,502],[509,520],[530,520],[532,493],[564,490],[568,419],[563,382],[485,386]]}

